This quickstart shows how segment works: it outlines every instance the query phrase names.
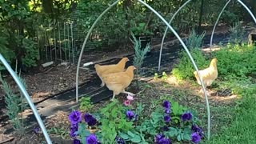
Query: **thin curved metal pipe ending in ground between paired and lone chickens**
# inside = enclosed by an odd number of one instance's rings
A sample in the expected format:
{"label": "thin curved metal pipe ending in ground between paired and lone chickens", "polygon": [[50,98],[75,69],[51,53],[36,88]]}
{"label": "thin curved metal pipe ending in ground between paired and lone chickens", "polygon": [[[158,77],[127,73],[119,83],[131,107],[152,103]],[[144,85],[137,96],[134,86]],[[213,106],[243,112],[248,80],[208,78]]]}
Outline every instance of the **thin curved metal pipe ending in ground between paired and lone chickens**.
{"label": "thin curved metal pipe ending in ground between paired and lone chickens", "polygon": [[[178,8],[178,10],[177,10],[177,11],[174,13],[174,15],[170,18],[170,22],[173,22],[175,16],[178,14],[178,12],[179,12],[180,10],[182,10],[182,8],[183,8],[184,6],[186,6],[186,4],[188,4],[190,1],[191,1],[191,0],[186,1],[181,7]],[[169,25],[170,25],[170,22],[169,22]],[[159,62],[158,62],[158,71],[160,71],[161,59],[162,59],[162,46],[163,46],[163,42],[165,42],[165,38],[166,38],[167,31],[168,31],[168,26],[166,26],[165,33],[164,33],[163,36],[162,36],[162,42],[161,42],[160,54],[159,54]]]}

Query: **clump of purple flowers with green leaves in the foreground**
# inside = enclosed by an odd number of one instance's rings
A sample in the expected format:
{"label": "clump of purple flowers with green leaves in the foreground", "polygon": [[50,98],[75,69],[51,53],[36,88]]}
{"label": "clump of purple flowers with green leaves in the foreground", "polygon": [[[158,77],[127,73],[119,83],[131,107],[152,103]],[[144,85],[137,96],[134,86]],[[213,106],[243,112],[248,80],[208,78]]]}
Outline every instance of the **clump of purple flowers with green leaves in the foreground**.
{"label": "clump of purple flowers with green leaves in the foreground", "polygon": [[204,137],[196,114],[178,102],[158,101],[153,111],[145,110],[142,103],[135,107],[111,102],[95,114],[74,110],[69,115],[70,137],[74,138],[74,143],[86,144],[199,143]]}

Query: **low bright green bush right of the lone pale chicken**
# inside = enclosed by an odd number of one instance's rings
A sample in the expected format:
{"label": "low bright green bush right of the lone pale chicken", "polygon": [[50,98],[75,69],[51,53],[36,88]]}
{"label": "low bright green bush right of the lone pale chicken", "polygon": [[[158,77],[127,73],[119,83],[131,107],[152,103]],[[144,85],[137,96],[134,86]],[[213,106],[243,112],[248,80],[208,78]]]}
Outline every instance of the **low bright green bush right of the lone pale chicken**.
{"label": "low bright green bush right of the lone pale chicken", "polygon": [[218,58],[218,74],[222,77],[243,77],[256,74],[256,50],[254,46],[228,45],[214,51]]}

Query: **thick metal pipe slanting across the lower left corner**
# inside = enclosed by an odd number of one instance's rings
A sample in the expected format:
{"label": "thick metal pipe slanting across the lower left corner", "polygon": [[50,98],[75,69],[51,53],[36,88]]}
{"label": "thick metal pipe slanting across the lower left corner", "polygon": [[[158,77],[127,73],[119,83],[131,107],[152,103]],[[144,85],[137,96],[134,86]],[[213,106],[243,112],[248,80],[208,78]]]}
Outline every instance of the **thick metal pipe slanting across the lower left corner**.
{"label": "thick metal pipe slanting across the lower left corner", "polygon": [[23,86],[22,82],[20,82],[20,80],[18,79],[17,74],[14,72],[14,70],[11,69],[10,65],[8,64],[8,62],[6,62],[6,59],[3,58],[2,54],[0,54],[0,60],[2,62],[2,64],[4,66],[6,66],[6,69],[9,71],[10,75],[14,78],[14,81],[17,83],[18,88],[22,91],[22,94],[24,95],[24,97],[26,98],[26,101],[29,103],[31,110],[34,113],[34,117],[37,119],[38,124],[42,130],[42,134],[45,136],[46,138],[46,142],[48,144],[52,144],[52,142],[50,141],[50,137],[46,131],[46,127],[44,126],[42,119],[40,118],[39,114],[38,114],[38,110],[37,108],[34,106],[34,103],[31,101],[30,99],[30,95],[27,93],[25,87]]}

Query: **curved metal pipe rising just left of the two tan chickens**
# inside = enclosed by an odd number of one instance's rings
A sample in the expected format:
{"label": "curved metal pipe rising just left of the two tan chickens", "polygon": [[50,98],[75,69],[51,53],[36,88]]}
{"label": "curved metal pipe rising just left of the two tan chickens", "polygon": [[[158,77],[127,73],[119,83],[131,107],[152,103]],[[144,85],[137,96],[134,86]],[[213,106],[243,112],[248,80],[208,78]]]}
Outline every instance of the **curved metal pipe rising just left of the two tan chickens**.
{"label": "curved metal pipe rising just left of the two tan chickens", "polygon": [[80,55],[79,55],[79,58],[78,58],[78,66],[77,66],[77,75],[76,75],[76,78],[75,78],[75,81],[76,81],[76,102],[78,102],[78,77],[79,77],[79,67],[80,67],[80,63],[81,63],[81,58],[82,58],[82,53],[83,53],[83,50],[85,49],[85,46],[86,46],[86,42],[90,36],[90,33],[92,32],[92,30],[94,29],[94,26],[96,26],[96,24],[98,23],[98,21],[102,18],[102,16],[104,14],[106,14],[106,12],[108,12],[113,6],[115,6],[116,4],[118,4],[118,2],[121,1],[121,0],[117,0],[116,2],[114,2],[112,5],[110,5],[108,8],[106,8],[106,10],[104,10],[102,12],[102,14],[100,14],[98,16],[98,18],[95,20],[94,24],[92,26],[90,26],[90,30],[88,31],[87,35],[86,35],[86,38],[85,38],[85,41],[83,42],[82,44],[82,49],[81,49],[81,52],[80,52]]}

